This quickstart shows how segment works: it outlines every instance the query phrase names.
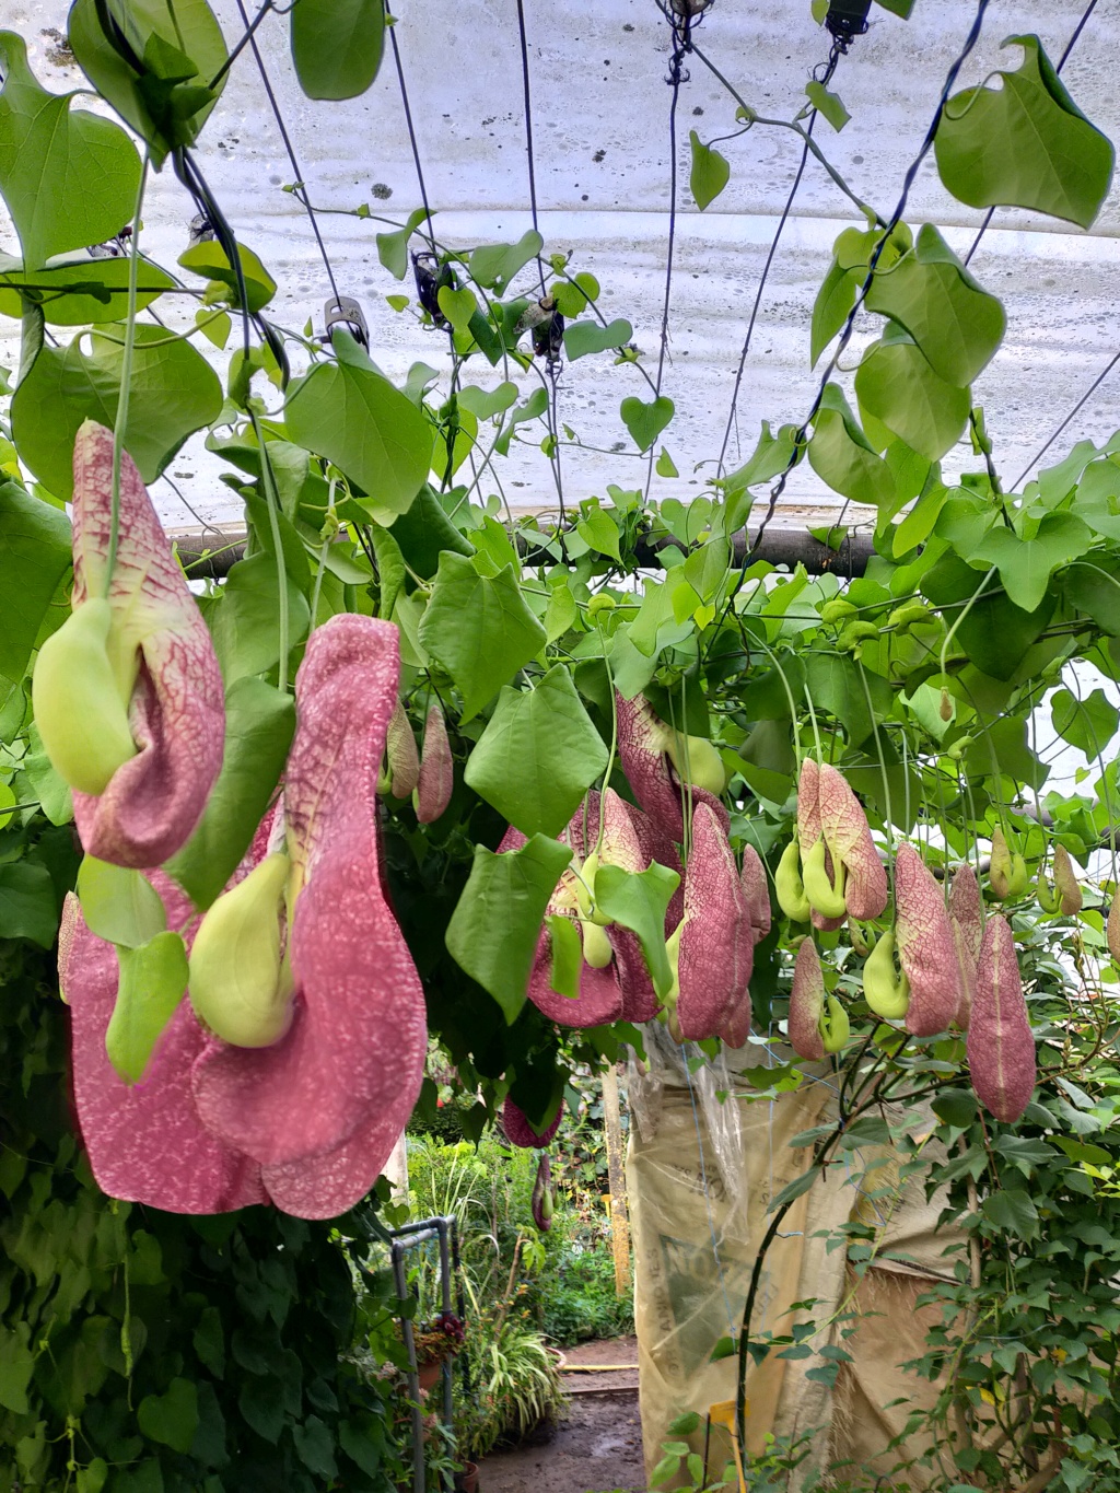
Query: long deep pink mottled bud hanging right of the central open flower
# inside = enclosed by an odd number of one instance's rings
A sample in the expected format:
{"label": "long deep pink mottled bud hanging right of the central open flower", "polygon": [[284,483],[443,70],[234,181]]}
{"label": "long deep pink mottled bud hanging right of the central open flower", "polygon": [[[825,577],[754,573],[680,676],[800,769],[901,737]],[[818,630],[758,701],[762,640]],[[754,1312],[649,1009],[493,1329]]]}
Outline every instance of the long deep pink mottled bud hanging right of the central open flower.
{"label": "long deep pink mottled bud hanging right of the central open flower", "polygon": [[727,835],[706,803],[693,808],[684,869],[676,1023],[685,1041],[717,1036],[750,1002],[754,929]]}

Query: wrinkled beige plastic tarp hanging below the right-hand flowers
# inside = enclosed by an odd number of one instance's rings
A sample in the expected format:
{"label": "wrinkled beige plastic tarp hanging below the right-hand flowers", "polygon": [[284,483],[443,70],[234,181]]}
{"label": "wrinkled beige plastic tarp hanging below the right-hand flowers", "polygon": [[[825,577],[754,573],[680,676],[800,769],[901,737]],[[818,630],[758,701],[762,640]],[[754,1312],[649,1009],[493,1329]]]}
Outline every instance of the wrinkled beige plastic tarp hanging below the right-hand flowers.
{"label": "wrinkled beige plastic tarp hanging below the right-hand flowers", "polygon": [[[660,1033],[650,1041],[648,1056],[651,1070],[635,1069],[630,1076],[635,1123],[627,1191],[642,1435],[647,1471],[653,1471],[669,1421],[687,1409],[703,1415],[709,1405],[735,1396],[736,1360],[711,1363],[712,1347],[721,1336],[738,1336],[756,1251],[771,1223],[769,1200],[811,1157],[811,1148],[790,1148],[788,1141],[833,1120],[836,1093],[821,1067],[794,1093],[748,1102],[735,1097],[745,1085],[736,1085],[723,1060],[687,1075],[679,1053]],[[778,1062],[783,1056],[777,1050]],[[765,1063],[765,1050],[748,1047],[739,1062]],[[721,1100],[721,1094],[729,1097]],[[880,1165],[865,1178],[874,1160]],[[918,1312],[917,1297],[933,1277],[951,1278],[960,1257],[962,1235],[935,1232],[942,1205],[942,1199],[927,1203],[912,1179],[899,1188],[895,1157],[865,1148],[842,1157],[785,1215],[766,1257],[753,1332],[787,1333],[793,1321],[815,1320],[829,1326],[811,1345],[842,1344],[854,1360],[841,1369],[835,1393],[827,1383],[806,1378],[823,1363],[815,1354],[780,1359],[772,1353],[748,1374],[750,1456],[765,1451],[768,1433],[812,1433],[811,1453],[791,1487],[847,1459],[890,1472],[899,1453],[887,1453],[887,1442],[902,1432],[915,1405],[932,1403],[936,1386],[902,1374],[899,1365],[924,1351],[932,1309]],[[824,1236],[850,1218],[877,1230],[875,1262],[859,1291],[845,1248],[833,1239],[829,1250]],[[893,1257],[884,1259],[884,1251]],[[812,1308],[791,1312],[794,1302],[809,1299],[815,1299]],[[863,1315],[856,1335],[842,1339],[832,1318],[851,1309]],[[902,1405],[892,1405],[900,1397]],[[702,1451],[703,1432],[691,1439]],[[909,1457],[920,1450],[914,1439],[906,1442]],[[709,1471],[720,1474],[727,1454],[726,1442],[712,1444]],[[921,1469],[911,1469],[906,1484],[921,1489],[927,1480]]]}

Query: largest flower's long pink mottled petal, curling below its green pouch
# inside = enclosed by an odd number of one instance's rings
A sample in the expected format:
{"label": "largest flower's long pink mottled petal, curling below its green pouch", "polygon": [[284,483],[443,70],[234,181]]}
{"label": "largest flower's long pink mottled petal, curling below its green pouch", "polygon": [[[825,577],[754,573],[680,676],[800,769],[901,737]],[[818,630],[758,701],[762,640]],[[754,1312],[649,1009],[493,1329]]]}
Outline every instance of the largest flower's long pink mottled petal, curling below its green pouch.
{"label": "largest flower's long pink mottled petal, curling below its green pouch", "polygon": [[424,994],[379,869],[376,773],[397,673],[391,623],[343,614],[312,635],[284,788],[293,1021],[272,1047],[212,1039],[194,1063],[203,1124],[300,1217],[335,1217],[369,1191],[423,1078]]}

